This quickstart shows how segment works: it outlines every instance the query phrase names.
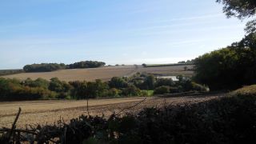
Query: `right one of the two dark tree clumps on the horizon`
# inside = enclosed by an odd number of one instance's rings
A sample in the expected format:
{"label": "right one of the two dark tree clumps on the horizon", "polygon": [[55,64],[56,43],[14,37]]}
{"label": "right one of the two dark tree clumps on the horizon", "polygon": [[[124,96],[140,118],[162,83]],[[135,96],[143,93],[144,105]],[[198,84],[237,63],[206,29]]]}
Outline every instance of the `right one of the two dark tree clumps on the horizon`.
{"label": "right one of the two dark tree clumps on the horizon", "polygon": [[105,62],[97,62],[97,61],[82,61],[75,62],[67,66],[68,69],[82,69],[82,68],[96,68],[100,66],[105,66]]}

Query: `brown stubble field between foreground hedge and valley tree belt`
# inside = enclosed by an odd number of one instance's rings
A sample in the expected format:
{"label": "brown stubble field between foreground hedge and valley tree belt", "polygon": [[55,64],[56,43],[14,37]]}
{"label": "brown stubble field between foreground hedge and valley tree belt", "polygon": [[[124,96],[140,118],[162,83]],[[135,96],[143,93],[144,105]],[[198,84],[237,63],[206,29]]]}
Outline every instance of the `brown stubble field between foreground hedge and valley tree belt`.
{"label": "brown stubble field between foreground hedge and valley tree belt", "polygon": [[[90,115],[102,115],[106,117],[115,112],[125,114],[136,113],[145,107],[176,105],[208,101],[222,97],[224,94],[211,94],[208,96],[186,96],[176,98],[142,97],[137,98],[110,98],[91,99],[89,101]],[[143,101],[144,100],[144,101]],[[139,104],[138,104],[139,103]],[[71,118],[78,118],[81,114],[88,114],[86,100],[49,100],[27,102],[0,102],[0,127],[10,127],[14,122],[18,107],[22,113],[18,118],[17,126],[25,128],[26,125],[54,124],[58,120],[69,122]]]}

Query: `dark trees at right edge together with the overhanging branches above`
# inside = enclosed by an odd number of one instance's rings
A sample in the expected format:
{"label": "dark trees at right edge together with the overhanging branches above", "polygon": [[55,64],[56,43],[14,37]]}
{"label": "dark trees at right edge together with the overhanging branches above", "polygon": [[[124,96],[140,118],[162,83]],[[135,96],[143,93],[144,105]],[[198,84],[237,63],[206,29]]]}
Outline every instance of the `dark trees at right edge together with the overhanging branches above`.
{"label": "dark trees at right edge together with the overhanging branches above", "polygon": [[250,18],[246,36],[221,50],[203,54],[194,60],[194,81],[211,90],[234,90],[256,83],[256,1],[216,0],[222,3],[227,18]]}

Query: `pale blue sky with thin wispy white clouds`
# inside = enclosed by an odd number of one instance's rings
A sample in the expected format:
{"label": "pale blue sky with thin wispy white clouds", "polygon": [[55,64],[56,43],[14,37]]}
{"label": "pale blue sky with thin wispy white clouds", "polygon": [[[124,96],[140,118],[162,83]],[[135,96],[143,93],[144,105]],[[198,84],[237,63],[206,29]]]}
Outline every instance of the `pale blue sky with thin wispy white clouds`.
{"label": "pale blue sky with thin wispy white clouds", "polygon": [[0,69],[174,63],[238,42],[245,23],[215,0],[0,0]]}

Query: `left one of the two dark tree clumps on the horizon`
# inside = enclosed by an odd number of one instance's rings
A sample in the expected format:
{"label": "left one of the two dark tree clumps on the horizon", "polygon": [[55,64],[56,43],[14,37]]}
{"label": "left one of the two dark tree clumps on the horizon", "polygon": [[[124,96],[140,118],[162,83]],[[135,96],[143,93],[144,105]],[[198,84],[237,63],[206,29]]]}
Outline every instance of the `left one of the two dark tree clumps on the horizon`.
{"label": "left one of the two dark tree clumps on the horizon", "polygon": [[54,70],[66,69],[64,63],[41,63],[41,64],[32,64],[26,65],[23,67],[25,72],[50,72]]}

